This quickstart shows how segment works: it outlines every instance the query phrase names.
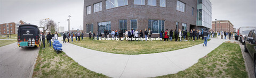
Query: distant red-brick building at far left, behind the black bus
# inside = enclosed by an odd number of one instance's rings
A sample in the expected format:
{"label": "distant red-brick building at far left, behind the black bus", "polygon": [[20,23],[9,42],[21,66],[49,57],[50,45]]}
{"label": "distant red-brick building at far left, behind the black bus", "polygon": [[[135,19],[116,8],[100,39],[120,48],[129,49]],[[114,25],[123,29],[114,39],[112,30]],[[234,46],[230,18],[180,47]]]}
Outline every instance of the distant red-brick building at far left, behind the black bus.
{"label": "distant red-brick building at far left, behind the black bus", "polygon": [[20,20],[18,23],[10,22],[10,23],[3,23],[0,24],[0,34],[17,34],[19,25],[27,24]]}

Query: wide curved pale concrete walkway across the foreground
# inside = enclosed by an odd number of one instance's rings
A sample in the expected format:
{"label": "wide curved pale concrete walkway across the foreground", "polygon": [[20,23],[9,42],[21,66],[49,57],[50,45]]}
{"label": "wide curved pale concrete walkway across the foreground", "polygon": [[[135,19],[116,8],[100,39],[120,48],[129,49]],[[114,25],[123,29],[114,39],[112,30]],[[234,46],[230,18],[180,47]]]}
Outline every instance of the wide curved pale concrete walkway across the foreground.
{"label": "wide curved pale concrete walkway across the foreground", "polygon": [[185,70],[225,41],[220,37],[211,38],[207,47],[199,44],[174,51],[142,55],[111,54],[67,43],[62,43],[62,48],[78,64],[96,73],[109,77],[156,77]]}

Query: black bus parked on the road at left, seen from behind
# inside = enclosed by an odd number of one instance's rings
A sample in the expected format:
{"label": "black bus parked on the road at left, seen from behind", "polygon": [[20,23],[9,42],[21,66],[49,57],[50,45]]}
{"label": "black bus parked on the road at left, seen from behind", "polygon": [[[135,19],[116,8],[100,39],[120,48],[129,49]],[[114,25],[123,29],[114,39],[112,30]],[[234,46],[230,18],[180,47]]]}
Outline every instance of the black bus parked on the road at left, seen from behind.
{"label": "black bus parked on the road at left, seen from behind", "polygon": [[17,40],[19,47],[39,47],[41,43],[41,34],[37,25],[20,25]]}

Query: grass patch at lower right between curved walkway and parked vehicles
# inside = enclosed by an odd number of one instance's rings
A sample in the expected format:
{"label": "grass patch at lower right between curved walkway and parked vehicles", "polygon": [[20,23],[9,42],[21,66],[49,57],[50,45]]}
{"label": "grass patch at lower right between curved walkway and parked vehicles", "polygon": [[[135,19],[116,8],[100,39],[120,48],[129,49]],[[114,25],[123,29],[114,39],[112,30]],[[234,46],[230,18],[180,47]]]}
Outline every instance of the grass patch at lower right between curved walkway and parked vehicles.
{"label": "grass patch at lower right between curved walkway and parked vehicles", "polygon": [[248,77],[238,44],[225,42],[177,74],[158,77]]}

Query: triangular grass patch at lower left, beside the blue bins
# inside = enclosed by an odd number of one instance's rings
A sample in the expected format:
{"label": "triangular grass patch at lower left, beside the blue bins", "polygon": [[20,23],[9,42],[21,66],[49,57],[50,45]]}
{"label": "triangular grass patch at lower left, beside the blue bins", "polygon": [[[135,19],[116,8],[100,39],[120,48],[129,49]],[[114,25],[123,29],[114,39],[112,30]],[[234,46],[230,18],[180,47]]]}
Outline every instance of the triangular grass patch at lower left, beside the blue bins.
{"label": "triangular grass patch at lower left, beside the blue bins", "polygon": [[41,45],[33,77],[107,77],[87,70],[65,53],[57,54],[49,44]]}

